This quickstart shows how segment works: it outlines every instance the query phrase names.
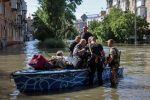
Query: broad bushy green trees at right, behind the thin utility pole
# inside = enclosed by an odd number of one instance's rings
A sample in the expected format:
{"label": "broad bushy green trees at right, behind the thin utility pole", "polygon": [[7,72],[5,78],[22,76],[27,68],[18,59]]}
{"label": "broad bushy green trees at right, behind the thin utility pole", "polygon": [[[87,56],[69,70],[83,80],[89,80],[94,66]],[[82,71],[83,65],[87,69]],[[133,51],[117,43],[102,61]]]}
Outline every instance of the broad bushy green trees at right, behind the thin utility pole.
{"label": "broad bushy green trees at right, behind the thin utility pole", "polygon": [[[110,13],[105,15],[104,20],[99,22],[98,26],[90,24],[89,27],[101,41],[113,38],[117,42],[125,42],[129,40],[131,35],[134,35],[134,17],[135,14],[130,11],[124,13],[121,9],[112,7]],[[149,23],[137,16],[138,40],[143,39],[148,25]]]}

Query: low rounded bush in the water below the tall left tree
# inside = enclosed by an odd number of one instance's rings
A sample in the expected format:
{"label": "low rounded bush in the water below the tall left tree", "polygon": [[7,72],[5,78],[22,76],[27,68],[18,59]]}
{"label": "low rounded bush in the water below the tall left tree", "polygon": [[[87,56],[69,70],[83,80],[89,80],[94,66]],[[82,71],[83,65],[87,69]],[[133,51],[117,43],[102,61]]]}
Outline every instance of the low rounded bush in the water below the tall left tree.
{"label": "low rounded bush in the water below the tall left tree", "polygon": [[45,48],[64,48],[65,42],[63,40],[50,38],[50,39],[45,39],[41,43],[41,45],[42,47],[45,47]]}

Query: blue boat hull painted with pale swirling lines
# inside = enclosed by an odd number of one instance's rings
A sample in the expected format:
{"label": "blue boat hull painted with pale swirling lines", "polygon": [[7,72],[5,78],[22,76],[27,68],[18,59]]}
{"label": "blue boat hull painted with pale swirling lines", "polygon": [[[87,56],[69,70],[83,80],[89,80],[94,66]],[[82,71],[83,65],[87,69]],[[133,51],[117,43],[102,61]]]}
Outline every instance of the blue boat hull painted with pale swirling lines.
{"label": "blue boat hull painted with pale swirling lines", "polygon": [[[88,85],[89,72],[87,69],[65,69],[57,71],[21,70],[12,73],[17,89],[20,92],[44,91],[62,89],[74,86]],[[118,76],[123,75],[123,68],[119,68]],[[110,68],[104,69],[103,80],[110,79]],[[95,73],[94,82],[97,82]]]}

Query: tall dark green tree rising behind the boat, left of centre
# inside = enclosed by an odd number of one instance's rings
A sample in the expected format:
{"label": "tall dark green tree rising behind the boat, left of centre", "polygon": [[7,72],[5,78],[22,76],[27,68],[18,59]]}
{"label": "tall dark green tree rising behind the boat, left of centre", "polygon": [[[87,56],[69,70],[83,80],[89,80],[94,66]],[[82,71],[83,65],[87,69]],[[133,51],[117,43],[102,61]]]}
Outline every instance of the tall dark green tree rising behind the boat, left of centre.
{"label": "tall dark green tree rising behind the boat, left of centre", "polygon": [[63,38],[66,30],[72,26],[75,9],[81,2],[82,0],[39,0],[40,8],[33,19],[36,28],[34,36],[39,40]]}

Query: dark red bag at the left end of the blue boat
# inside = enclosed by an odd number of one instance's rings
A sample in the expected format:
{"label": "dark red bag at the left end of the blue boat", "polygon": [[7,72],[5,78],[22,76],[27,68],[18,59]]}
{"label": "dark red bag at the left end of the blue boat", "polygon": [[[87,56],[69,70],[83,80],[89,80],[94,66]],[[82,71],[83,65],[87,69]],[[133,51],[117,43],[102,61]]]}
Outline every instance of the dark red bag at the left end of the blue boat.
{"label": "dark red bag at the left end of the blue boat", "polygon": [[35,70],[49,70],[54,67],[41,54],[33,55],[28,64]]}

